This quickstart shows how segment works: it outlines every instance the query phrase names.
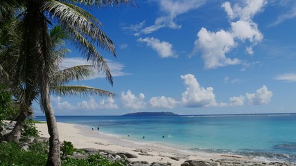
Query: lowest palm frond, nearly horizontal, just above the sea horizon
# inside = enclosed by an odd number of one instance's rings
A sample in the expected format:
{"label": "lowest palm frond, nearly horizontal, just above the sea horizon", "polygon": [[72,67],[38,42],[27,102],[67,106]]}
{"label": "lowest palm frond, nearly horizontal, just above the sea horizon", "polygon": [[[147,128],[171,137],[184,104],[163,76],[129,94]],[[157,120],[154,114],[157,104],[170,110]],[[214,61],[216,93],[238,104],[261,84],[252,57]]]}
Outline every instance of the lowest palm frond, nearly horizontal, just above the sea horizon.
{"label": "lowest palm frond, nearly horizontal, just above the sea horizon", "polygon": [[87,95],[100,95],[110,98],[115,98],[115,94],[110,91],[96,89],[89,86],[70,85],[70,86],[53,86],[51,91],[57,95],[78,95],[86,97]]}

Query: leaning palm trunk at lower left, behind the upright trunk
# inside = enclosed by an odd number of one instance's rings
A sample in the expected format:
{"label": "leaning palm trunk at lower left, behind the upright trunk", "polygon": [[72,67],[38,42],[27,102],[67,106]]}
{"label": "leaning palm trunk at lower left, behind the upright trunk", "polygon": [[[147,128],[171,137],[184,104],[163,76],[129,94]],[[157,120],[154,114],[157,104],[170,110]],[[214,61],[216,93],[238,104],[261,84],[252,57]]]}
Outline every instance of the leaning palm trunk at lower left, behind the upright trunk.
{"label": "leaning palm trunk at lower left, behind the upright trunk", "polygon": [[21,113],[19,113],[19,116],[17,116],[17,122],[15,123],[15,127],[12,129],[10,133],[3,136],[1,141],[5,140],[8,142],[10,141],[18,142],[19,138],[21,138],[21,131],[23,129],[26,118],[27,118],[26,113],[24,111],[21,111]]}

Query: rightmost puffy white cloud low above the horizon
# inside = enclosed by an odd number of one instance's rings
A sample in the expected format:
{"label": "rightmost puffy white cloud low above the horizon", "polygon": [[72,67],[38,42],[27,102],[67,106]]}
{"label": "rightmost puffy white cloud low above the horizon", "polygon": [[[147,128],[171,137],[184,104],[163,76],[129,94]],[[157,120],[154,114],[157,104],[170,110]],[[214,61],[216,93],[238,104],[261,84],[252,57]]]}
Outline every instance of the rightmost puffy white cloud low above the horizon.
{"label": "rightmost puffy white cloud low above the horizon", "polygon": [[261,89],[256,91],[256,93],[246,93],[245,96],[247,100],[249,100],[249,104],[268,104],[272,98],[272,91],[268,91],[267,87],[263,85]]}

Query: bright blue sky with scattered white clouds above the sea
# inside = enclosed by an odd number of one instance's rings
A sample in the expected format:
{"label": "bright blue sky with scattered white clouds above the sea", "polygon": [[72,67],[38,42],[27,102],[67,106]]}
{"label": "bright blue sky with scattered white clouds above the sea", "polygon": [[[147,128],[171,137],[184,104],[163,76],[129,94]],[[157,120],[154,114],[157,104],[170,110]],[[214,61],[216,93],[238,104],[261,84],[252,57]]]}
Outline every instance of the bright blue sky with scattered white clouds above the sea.
{"label": "bright blue sky with scattered white clouds above the sea", "polygon": [[[52,95],[55,115],[296,112],[296,1],[135,2],[91,11],[116,44],[116,58],[98,48],[114,85],[102,74],[71,82],[116,98]],[[86,63],[68,48],[63,67]]]}

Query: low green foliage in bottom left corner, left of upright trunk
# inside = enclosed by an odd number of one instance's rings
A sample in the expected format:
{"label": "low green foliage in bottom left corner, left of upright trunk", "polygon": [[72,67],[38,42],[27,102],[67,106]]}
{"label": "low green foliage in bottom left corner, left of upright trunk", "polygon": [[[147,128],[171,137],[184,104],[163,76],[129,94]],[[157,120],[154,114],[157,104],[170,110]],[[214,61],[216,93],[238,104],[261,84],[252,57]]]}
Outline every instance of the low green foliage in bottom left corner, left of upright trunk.
{"label": "low green foliage in bottom left corner, left of upright trunk", "polygon": [[46,165],[47,154],[39,144],[29,151],[21,150],[16,142],[0,143],[0,165]]}

